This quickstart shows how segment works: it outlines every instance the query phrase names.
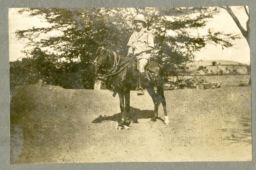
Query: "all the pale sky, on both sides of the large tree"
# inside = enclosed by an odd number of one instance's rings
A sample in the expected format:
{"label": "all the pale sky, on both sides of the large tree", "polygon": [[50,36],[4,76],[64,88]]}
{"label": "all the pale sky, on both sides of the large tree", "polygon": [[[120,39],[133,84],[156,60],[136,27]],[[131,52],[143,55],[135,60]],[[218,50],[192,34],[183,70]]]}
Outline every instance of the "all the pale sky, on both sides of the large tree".
{"label": "all the pale sky, on both sides of the large tree", "polygon": [[[18,9],[9,8],[9,61],[15,61],[20,57],[26,57],[21,51],[24,49],[27,40],[19,40],[15,35],[17,30],[26,30],[28,28],[49,26],[39,17],[28,17],[17,13]],[[238,17],[241,25],[246,29],[247,15],[243,6],[233,6],[232,10]],[[195,53],[195,60],[230,60],[240,63],[250,63],[250,48],[246,39],[242,36],[241,31],[236,26],[232,17],[225,9],[216,14],[205,28],[199,28],[194,32],[195,35],[206,35],[207,30],[211,28],[213,31],[221,31],[224,34],[240,34],[241,39],[234,40],[233,47],[224,48],[221,45],[207,44],[206,47]],[[56,34],[56,33],[55,33]],[[42,35],[42,38],[54,36],[54,33]]]}

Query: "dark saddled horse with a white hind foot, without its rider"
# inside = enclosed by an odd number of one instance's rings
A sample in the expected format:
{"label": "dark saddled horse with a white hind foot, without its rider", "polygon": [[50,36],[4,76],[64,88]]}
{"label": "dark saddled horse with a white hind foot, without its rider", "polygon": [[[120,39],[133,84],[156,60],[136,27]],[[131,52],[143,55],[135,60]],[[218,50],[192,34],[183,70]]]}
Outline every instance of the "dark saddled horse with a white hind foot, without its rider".
{"label": "dark saddled horse with a white hind foot, without its rider", "polygon": [[[99,47],[96,50],[95,58],[91,64],[94,68],[94,74],[102,75],[105,84],[108,88],[113,89],[113,96],[119,95],[120,110],[121,110],[121,121],[119,122],[118,129],[123,127],[130,127],[130,91],[138,88],[138,70],[137,59],[134,57],[122,57],[114,51],[108,50],[104,47]],[[158,74],[161,73],[161,66],[154,61],[150,61],[147,68],[158,68],[153,69],[153,72],[147,71],[144,79],[141,79],[141,87],[146,88],[148,94],[151,96],[154,102],[154,115],[150,119],[152,122],[156,122],[158,118],[158,107],[160,103],[163,105],[164,111],[164,124],[169,125],[169,119],[166,111],[166,99],[164,97],[164,83],[163,78]],[[154,66],[152,66],[154,65]],[[159,70],[159,72],[157,71]],[[151,70],[152,71],[152,70]],[[98,74],[103,72],[102,74]],[[151,74],[150,74],[151,73]],[[154,91],[154,86],[157,88],[157,93]]]}

